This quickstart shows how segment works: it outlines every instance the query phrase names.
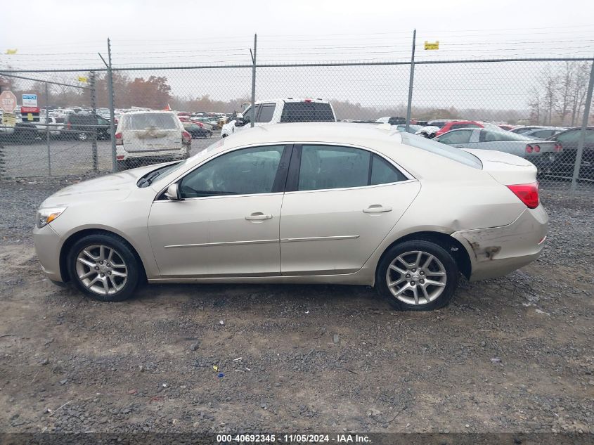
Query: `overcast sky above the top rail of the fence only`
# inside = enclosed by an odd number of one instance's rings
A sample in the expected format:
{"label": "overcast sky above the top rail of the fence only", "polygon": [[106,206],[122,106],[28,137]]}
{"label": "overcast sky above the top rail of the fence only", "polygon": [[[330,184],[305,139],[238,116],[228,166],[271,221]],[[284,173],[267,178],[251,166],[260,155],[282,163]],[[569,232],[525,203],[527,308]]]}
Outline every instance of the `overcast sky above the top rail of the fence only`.
{"label": "overcast sky above the top rail of the fence only", "polygon": [[419,58],[594,53],[588,0],[29,0],[0,11],[0,66],[90,66],[108,37],[120,64],[247,61],[254,32],[261,60],[401,59],[415,27],[418,44],[441,42]]}

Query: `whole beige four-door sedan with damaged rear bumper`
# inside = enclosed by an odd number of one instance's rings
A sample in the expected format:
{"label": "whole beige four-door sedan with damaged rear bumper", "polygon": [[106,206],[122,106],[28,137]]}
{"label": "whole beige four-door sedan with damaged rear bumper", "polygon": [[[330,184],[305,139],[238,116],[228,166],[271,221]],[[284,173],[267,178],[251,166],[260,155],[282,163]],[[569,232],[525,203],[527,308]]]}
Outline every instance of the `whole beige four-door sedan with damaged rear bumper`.
{"label": "whole beige four-door sedan with damaged rear bumper", "polygon": [[292,123],[64,188],[41,204],[34,241],[51,280],[103,302],[147,280],[334,283],[424,311],[450,301],[460,273],[493,278],[534,261],[547,224],[521,157]]}

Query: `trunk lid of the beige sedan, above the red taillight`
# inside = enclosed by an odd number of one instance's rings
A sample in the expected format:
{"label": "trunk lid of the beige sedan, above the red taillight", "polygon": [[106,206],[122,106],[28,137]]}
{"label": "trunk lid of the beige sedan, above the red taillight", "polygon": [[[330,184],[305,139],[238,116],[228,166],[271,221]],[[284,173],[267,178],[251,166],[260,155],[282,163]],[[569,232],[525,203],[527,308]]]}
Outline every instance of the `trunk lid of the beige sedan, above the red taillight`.
{"label": "trunk lid of the beige sedan, above the red taillight", "polygon": [[523,157],[495,150],[471,150],[468,153],[481,160],[484,172],[505,186],[536,181],[536,167]]}

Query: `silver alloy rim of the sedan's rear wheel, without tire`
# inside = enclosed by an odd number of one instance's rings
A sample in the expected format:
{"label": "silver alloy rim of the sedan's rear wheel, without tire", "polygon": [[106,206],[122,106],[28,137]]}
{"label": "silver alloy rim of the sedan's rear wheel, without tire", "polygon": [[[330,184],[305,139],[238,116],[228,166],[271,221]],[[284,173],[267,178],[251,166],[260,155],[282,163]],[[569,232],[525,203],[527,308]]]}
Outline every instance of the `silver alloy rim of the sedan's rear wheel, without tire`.
{"label": "silver alloy rim of the sedan's rear wheel, without tire", "polygon": [[446,288],[446,268],[434,255],[413,250],[389,264],[386,283],[392,295],[403,303],[429,304]]}

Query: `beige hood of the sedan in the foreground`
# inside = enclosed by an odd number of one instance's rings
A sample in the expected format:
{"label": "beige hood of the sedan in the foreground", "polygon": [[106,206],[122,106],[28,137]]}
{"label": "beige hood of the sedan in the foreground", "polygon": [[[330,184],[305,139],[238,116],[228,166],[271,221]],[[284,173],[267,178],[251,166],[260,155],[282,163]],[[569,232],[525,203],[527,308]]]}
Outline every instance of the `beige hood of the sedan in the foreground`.
{"label": "beige hood of the sedan in the foreground", "polygon": [[115,202],[124,200],[137,187],[136,182],[138,182],[138,179],[157,167],[159,166],[149,165],[72,184],[72,186],[67,186],[49,196],[41,203],[40,207],[60,207],[77,202]]}

